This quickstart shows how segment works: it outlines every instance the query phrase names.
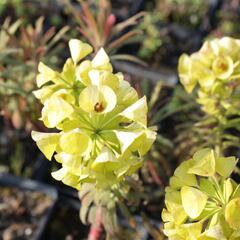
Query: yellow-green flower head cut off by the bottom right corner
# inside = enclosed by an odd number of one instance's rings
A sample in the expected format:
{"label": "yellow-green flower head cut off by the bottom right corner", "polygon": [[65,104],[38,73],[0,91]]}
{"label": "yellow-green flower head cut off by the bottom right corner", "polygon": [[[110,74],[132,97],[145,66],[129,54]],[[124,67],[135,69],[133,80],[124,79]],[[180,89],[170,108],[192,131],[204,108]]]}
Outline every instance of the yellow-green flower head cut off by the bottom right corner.
{"label": "yellow-green flower head cut off by the bottom right corner", "polygon": [[235,157],[206,148],[175,170],[162,212],[168,239],[240,239],[240,185],[229,178],[235,165]]}

